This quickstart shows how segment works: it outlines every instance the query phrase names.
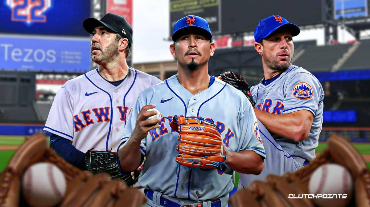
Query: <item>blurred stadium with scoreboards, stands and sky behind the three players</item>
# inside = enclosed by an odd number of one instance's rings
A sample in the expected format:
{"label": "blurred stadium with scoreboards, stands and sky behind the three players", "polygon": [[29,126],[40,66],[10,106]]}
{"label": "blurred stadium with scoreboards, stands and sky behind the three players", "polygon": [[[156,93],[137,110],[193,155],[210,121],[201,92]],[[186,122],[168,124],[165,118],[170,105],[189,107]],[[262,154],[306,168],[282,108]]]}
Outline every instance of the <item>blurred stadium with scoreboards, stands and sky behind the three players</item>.
{"label": "blurred stadium with scoreboards, stands and sky behind the three players", "polygon": [[129,65],[164,80],[177,72],[169,53],[176,20],[208,20],[215,55],[209,73],[236,71],[250,85],[263,78],[253,31],[281,15],[301,28],[293,64],[312,72],[324,91],[320,140],[332,132],[370,141],[369,0],[38,0],[0,2],[0,134],[41,131],[58,89],[97,65],[82,27],[88,17],[124,16],[134,30]]}

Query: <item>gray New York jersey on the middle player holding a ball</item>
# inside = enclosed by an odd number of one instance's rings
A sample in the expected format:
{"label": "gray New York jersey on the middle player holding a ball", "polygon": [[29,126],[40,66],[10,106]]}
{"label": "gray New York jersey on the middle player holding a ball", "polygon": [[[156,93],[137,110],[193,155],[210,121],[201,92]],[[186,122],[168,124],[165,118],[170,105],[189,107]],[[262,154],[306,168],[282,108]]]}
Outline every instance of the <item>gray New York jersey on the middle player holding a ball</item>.
{"label": "gray New York jersey on the middle player holding a ball", "polygon": [[[147,104],[156,104],[165,117],[184,115],[212,119],[226,149],[236,152],[252,150],[265,157],[252,105],[242,92],[218,78],[195,95],[181,86],[176,75],[145,89],[132,107],[120,146],[129,138],[137,114]],[[178,165],[175,161],[178,133],[171,129],[169,120],[165,118],[159,125],[159,129],[149,131],[141,142],[141,153],[147,159],[139,184],[169,197],[193,201],[227,196],[234,187],[234,175],[218,174],[216,169],[205,171]]]}

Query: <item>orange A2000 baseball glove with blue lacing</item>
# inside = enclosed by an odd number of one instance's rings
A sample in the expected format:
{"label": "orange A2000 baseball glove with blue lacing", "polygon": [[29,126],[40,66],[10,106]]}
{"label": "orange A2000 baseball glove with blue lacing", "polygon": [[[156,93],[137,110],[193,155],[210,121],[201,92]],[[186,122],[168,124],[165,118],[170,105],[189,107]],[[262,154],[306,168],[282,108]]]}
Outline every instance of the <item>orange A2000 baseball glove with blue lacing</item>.
{"label": "orange A2000 baseball glove with blue lacing", "polygon": [[175,115],[171,128],[179,133],[176,162],[191,168],[225,170],[226,149],[212,120]]}

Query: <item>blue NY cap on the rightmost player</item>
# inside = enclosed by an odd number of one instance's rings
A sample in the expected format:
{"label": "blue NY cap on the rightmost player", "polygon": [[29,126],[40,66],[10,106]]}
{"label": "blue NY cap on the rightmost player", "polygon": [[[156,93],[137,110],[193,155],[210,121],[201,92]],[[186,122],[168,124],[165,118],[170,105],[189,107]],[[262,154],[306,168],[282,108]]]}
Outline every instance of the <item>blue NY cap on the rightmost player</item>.
{"label": "blue NY cap on the rightmost player", "polygon": [[254,35],[255,41],[261,42],[262,39],[269,37],[276,30],[292,32],[293,36],[297,36],[300,32],[299,27],[295,24],[289,23],[284,17],[280,15],[272,15],[259,21]]}

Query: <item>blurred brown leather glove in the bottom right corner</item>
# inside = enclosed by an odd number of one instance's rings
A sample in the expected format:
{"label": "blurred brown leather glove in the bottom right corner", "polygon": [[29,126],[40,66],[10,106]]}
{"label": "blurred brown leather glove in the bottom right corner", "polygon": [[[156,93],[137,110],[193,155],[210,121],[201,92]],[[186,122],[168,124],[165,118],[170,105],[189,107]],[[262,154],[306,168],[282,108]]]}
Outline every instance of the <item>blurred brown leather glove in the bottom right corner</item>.
{"label": "blurred brown leather glove in the bottom right corner", "polygon": [[248,189],[238,190],[231,196],[229,203],[233,207],[314,207],[313,199],[288,197],[289,194],[309,194],[309,180],[313,172],[327,163],[339,164],[351,174],[354,193],[347,207],[370,207],[369,168],[356,149],[335,134],[329,138],[327,148],[305,167],[283,176],[268,175],[265,181],[254,181]]}

